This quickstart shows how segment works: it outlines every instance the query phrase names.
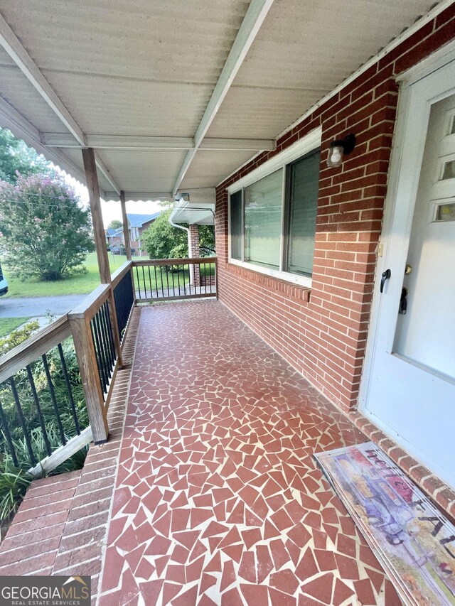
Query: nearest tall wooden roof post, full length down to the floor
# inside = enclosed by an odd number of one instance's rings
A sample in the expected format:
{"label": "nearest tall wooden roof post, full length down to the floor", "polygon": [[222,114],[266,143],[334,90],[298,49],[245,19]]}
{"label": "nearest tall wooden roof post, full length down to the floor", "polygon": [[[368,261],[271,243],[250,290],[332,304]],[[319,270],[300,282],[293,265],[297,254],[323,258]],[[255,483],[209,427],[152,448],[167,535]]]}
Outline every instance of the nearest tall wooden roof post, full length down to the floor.
{"label": "nearest tall wooden roof post, full length down to the floor", "polygon": [[[82,158],[84,160],[90,210],[92,210],[93,234],[95,236],[95,247],[97,249],[100,280],[102,284],[110,284],[111,271],[109,268],[109,257],[107,256],[105,228],[102,224],[100,185],[98,185],[97,165],[93,148],[89,147],[82,149]],[[109,313],[111,316],[112,332],[114,333],[114,344],[119,359],[119,366],[123,367],[122,347],[120,347],[119,327],[117,325],[117,313],[115,310],[114,292],[112,291],[112,288],[109,291]]]}

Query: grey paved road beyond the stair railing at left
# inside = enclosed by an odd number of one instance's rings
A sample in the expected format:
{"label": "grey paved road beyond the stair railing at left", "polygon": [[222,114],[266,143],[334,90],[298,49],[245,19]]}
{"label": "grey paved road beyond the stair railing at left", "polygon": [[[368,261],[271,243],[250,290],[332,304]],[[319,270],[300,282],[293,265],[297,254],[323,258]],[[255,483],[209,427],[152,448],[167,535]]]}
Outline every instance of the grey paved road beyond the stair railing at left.
{"label": "grey paved road beyond the stair railing at left", "polygon": [[55,297],[0,298],[0,318],[18,318],[51,313],[58,316],[73,309],[87,295],[59,295]]}

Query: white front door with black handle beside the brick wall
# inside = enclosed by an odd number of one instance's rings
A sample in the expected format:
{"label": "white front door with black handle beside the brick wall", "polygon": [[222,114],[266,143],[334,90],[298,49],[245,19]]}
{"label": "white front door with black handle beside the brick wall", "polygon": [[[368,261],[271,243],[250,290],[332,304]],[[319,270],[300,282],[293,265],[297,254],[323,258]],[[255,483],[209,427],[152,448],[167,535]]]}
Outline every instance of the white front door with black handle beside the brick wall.
{"label": "white front door with black handle beside the brick wall", "polygon": [[455,487],[455,61],[400,111],[360,408]]}

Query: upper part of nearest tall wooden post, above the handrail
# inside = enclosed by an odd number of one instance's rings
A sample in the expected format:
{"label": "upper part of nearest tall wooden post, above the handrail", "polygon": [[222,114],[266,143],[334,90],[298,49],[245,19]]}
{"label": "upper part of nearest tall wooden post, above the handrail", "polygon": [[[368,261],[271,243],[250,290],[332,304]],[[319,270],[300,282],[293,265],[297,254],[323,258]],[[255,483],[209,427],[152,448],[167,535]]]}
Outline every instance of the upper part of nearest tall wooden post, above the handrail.
{"label": "upper part of nearest tall wooden post, above the handrail", "polygon": [[93,148],[82,149],[82,158],[84,160],[90,210],[92,211],[93,234],[97,249],[100,279],[102,284],[108,284],[111,281],[111,271],[109,269],[109,257],[107,256],[105,228],[102,224],[100,186],[98,185],[97,165]]}

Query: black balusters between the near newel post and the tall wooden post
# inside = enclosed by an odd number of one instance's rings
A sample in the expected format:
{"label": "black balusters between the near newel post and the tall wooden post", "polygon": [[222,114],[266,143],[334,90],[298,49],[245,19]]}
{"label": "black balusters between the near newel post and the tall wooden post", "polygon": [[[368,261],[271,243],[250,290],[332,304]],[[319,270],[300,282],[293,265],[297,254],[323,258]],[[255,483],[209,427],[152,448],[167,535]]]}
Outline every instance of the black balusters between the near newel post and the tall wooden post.
{"label": "black balusters between the near newel post and the tall wooden post", "polygon": [[108,301],[102,303],[100,309],[97,310],[97,313],[90,320],[90,329],[93,345],[95,346],[95,357],[102,393],[104,396],[107,396],[117,358]]}

